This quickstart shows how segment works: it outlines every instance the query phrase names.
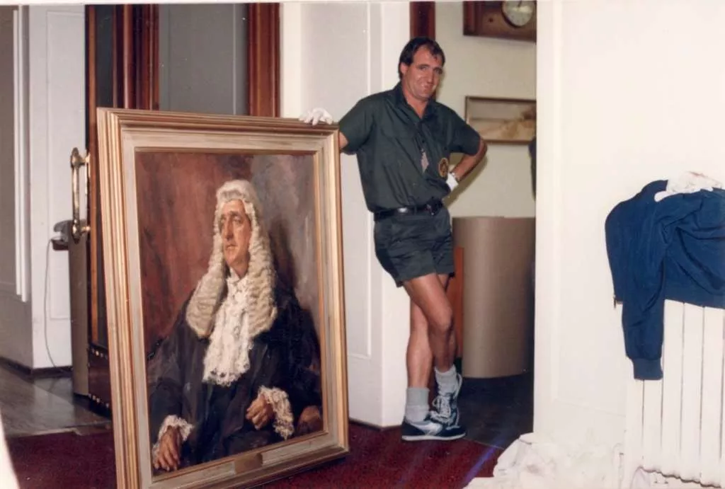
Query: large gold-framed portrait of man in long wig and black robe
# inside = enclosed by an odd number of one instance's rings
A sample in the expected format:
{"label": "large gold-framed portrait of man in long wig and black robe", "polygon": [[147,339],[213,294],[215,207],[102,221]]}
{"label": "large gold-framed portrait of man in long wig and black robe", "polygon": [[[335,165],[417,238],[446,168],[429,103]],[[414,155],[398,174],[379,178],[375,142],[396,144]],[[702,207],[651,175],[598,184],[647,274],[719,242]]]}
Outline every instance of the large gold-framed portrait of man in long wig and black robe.
{"label": "large gold-framed portrait of man in long wig and black robe", "polygon": [[336,126],[98,120],[118,487],[249,487],[347,454]]}

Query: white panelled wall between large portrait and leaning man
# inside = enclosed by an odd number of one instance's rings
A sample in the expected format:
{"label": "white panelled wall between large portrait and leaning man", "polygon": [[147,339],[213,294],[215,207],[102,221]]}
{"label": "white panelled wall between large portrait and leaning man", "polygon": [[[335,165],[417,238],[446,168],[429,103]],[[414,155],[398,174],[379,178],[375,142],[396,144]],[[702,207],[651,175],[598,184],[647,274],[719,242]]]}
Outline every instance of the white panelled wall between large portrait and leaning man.
{"label": "white panelled wall between large portrait and leaning man", "polygon": [[[283,116],[321,106],[339,120],[358,99],[392,88],[409,22],[405,2],[282,4]],[[407,296],[378,265],[355,158],[341,155],[341,166],[350,417],[399,425]]]}

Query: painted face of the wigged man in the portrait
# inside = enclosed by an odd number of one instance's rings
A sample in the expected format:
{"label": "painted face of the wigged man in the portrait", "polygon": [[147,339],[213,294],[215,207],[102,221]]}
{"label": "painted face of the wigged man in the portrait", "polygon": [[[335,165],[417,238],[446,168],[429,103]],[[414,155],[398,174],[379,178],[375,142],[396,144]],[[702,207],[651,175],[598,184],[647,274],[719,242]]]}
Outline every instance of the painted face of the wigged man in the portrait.
{"label": "painted face of the wigged man in the portrait", "polygon": [[252,238],[252,222],[244,212],[244,202],[228,201],[222,207],[219,233],[224,246],[224,259],[229,268],[243,277],[249,265],[249,240]]}

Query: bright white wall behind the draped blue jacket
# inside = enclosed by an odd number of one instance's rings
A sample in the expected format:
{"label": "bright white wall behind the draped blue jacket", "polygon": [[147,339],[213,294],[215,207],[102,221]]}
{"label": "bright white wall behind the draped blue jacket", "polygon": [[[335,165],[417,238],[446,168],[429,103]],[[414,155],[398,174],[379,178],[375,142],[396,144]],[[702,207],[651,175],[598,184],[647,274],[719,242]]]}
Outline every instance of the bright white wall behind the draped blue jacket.
{"label": "bright white wall behind the draped blue jacket", "polygon": [[725,182],[724,22],[708,0],[539,2],[535,432],[624,439],[604,222],[652,180]]}

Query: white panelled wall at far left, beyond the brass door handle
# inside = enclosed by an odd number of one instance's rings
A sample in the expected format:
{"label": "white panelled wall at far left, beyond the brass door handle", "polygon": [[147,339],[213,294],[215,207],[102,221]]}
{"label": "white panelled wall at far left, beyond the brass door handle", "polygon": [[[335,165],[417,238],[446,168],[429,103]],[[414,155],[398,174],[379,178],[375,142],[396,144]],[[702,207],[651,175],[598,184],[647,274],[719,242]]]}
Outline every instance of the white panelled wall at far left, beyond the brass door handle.
{"label": "white panelled wall at far left, beyond the brass door handle", "polygon": [[68,257],[49,241],[71,217],[70,151],[85,146],[83,6],[23,7],[14,27],[12,10],[0,14],[0,356],[65,367]]}

